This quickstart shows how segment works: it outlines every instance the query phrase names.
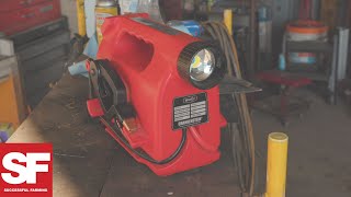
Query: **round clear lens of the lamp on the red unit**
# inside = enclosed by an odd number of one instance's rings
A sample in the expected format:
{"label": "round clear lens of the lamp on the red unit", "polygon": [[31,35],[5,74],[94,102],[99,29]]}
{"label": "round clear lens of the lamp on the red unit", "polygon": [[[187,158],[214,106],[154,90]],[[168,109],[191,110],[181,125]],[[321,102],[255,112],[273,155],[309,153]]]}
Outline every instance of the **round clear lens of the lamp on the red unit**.
{"label": "round clear lens of the lamp on the red unit", "polygon": [[200,50],[192,59],[190,77],[195,81],[206,80],[214,71],[215,56],[208,49]]}

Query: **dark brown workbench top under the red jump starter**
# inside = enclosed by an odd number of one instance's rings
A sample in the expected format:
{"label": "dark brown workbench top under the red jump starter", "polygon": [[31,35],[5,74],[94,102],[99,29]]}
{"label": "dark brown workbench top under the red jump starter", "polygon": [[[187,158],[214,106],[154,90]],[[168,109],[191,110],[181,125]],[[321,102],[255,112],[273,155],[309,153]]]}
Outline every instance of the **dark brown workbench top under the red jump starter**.
{"label": "dark brown workbench top under the red jump starter", "polygon": [[9,142],[54,146],[55,197],[239,196],[229,137],[212,165],[158,177],[88,117],[88,79],[65,74]]}

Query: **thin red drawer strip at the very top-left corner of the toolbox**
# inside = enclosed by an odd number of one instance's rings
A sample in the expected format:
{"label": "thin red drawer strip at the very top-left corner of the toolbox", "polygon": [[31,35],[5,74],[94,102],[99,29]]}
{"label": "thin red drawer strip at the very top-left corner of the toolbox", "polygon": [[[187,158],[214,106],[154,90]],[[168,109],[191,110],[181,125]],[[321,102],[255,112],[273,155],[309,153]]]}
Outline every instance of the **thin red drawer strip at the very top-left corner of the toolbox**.
{"label": "thin red drawer strip at the very top-left corner of the toolbox", "polygon": [[45,1],[54,0],[0,0],[0,12],[20,10]]}

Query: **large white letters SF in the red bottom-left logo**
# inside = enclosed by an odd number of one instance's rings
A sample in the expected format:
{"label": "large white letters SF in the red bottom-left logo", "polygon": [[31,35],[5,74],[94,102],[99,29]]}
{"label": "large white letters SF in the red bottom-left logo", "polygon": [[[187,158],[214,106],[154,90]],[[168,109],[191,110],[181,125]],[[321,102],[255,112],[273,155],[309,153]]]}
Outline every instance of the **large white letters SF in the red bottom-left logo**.
{"label": "large white letters SF in the red bottom-left logo", "polygon": [[[25,163],[26,166],[15,163]],[[37,162],[49,162],[50,153],[20,153],[10,152],[2,159],[2,166],[14,173],[1,173],[4,182],[12,185],[36,184],[36,173],[47,173],[48,164],[37,164]],[[16,174],[15,174],[16,173]]]}

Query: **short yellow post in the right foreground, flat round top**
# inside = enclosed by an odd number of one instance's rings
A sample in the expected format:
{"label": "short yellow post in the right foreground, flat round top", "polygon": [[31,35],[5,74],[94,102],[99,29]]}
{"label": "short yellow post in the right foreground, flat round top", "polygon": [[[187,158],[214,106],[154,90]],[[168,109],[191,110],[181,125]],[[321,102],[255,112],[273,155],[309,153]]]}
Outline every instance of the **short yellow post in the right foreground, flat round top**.
{"label": "short yellow post in the right foreground, flat round top", "polygon": [[287,143],[283,132],[269,135],[265,197],[285,197]]}

